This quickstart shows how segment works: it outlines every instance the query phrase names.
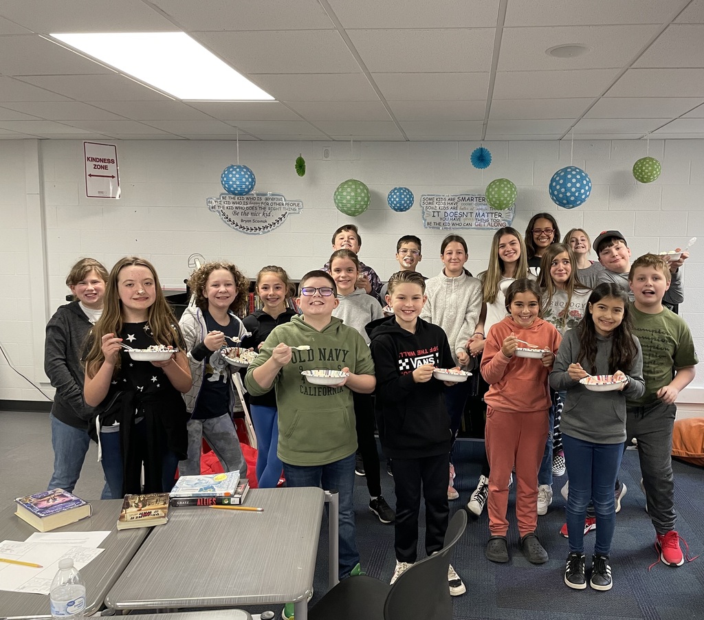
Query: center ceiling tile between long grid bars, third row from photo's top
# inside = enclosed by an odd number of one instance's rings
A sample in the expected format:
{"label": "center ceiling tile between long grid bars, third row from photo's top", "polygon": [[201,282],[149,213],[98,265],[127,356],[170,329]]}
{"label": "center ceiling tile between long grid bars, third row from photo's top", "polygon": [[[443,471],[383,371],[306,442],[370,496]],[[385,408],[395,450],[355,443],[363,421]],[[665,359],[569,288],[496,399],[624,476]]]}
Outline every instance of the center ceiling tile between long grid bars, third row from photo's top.
{"label": "center ceiling tile between long grid bars, third row from photo's top", "polygon": [[375,73],[386,101],[485,101],[489,73]]}

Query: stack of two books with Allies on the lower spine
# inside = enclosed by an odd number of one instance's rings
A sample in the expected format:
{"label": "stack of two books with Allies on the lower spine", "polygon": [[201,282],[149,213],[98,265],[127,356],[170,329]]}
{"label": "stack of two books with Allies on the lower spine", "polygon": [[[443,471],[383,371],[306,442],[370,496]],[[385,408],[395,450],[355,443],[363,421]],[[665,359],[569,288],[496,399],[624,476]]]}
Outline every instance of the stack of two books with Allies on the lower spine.
{"label": "stack of two books with Allies on the lower spine", "polygon": [[239,505],[249,491],[249,480],[239,472],[181,476],[169,493],[172,506]]}

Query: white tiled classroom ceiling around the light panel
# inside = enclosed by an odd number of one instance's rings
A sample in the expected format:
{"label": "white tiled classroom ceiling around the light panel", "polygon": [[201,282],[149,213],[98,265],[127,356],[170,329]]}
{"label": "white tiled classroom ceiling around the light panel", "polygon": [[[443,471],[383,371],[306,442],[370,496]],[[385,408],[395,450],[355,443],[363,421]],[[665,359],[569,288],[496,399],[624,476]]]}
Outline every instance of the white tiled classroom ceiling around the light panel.
{"label": "white tiled classroom ceiling around the light panel", "polygon": [[[42,38],[176,30],[277,101],[174,100]],[[702,42],[704,0],[2,0],[0,139],[704,138]]]}

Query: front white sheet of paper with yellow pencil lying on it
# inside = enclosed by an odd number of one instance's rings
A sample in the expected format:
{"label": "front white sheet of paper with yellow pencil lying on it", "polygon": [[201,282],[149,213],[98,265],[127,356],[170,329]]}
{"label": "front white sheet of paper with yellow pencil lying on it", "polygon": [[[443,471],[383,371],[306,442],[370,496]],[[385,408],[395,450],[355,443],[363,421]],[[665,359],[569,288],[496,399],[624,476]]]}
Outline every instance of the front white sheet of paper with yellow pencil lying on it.
{"label": "front white sheet of paper with yellow pencil lying on it", "polygon": [[42,568],[24,567],[19,564],[0,562],[0,590],[49,594],[51,581],[58,571],[58,561],[72,557],[73,565],[82,569],[92,559],[98,557],[102,549],[56,545],[44,543],[23,543],[19,540],[3,540],[0,543],[0,557],[20,562],[32,562]]}

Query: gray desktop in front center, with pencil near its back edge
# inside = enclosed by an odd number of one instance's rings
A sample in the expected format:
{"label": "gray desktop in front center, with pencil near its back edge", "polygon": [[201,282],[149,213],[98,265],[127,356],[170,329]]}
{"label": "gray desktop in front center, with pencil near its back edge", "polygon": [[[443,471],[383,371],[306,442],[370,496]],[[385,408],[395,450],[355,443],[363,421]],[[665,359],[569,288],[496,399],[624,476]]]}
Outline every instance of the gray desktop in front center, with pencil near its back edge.
{"label": "gray desktop in front center, with pencil near its back edge", "polygon": [[325,493],[252,489],[263,512],[180,507],[154,528],[106,597],[114,609],[237,607],[303,600],[313,584]]}

